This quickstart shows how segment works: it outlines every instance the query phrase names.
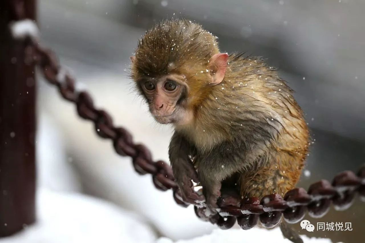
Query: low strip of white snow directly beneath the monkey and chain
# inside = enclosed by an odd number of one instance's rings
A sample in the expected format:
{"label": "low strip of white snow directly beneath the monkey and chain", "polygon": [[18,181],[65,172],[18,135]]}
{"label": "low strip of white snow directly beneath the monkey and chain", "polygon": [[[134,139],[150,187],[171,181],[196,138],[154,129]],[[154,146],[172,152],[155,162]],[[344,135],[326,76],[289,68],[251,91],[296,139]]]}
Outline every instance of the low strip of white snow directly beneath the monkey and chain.
{"label": "low strip of white snow directly beneath the monkey and chain", "polygon": [[[301,235],[303,242],[316,242],[316,243],[331,243],[330,239],[323,238],[309,238],[306,235]],[[266,230],[263,228],[252,228],[251,230],[241,230],[241,229],[230,229],[230,230],[220,230],[216,229],[211,234],[203,235],[197,238],[188,240],[178,240],[175,243],[245,243],[245,242],[268,242],[270,239],[271,243],[276,242],[288,242],[291,241],[284,239],[279,228],[274,228],[272,230]],[[174,241],[169,238],[162,237],[156,241],[156,243],[172,243]]]}

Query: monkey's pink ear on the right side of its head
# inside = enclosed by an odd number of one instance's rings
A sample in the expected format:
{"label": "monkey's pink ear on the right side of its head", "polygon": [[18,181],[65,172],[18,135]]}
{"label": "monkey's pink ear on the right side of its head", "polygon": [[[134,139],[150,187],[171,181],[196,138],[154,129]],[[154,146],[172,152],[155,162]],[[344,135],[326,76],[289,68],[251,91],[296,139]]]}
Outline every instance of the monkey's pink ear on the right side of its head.
{"label": "monkey's pink ear on the right side of its head", "polygon": [[227,69],[228,54],[218,53],[212,56],[209,60],[208,67],[212,69],[215,73],[211,74],[212,80],[211,84],[219,84],[222,82]]}

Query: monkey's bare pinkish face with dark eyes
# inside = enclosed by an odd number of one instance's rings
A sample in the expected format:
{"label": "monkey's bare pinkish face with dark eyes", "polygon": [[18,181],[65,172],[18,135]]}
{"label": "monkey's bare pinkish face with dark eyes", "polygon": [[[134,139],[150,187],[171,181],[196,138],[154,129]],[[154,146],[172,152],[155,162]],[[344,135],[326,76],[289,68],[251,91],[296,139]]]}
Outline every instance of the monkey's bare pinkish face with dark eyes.
{"label": "monkey's bare pinkish face with dark eyes", "polygon": [[187,109],[188,86],[181,75],[141,78],[139,88],[149,103],[155,120],[162,124],[185,124],[191,119]]}

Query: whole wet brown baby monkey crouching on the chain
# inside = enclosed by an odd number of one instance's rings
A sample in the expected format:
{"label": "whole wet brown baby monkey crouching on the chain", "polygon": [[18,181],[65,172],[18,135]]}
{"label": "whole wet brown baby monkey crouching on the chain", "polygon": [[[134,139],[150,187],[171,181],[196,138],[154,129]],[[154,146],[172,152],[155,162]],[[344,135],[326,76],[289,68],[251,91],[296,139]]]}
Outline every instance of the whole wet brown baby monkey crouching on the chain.
{"label": "whole wet brown baby monkey crouching on the chain", "polygon": [[[274,68],[221,53],[215,36],[185,19],[149,29],[131,60],[131,77],[151,114],[174,126],[169,157],[186,202],[205,199],[216,212],[228,180],[241,196],[258,198],[295,187],[308,128]],[[191,180],[204,196],[192,193]]]}

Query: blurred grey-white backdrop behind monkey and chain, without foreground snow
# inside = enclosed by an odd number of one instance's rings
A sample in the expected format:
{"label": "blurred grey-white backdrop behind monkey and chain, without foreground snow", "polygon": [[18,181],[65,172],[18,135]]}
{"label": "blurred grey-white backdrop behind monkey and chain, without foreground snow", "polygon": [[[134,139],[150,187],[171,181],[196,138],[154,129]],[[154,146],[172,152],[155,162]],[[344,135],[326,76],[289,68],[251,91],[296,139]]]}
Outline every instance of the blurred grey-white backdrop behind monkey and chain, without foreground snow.
{"label": "blurred grey-white backdrop behind monkey and chain, without foreground snow", "polygon": [[[311,128],[313,144],[298,184],[308,188],[343,170],[357,171],[365,161],[364,11],[362,0],[38,0],[38,23],[42,42],[77,77],[78,88],[90,91],[96,105],[146,144],[154,159],[165,161],[172,129],[155,124],[127,77],[129,56],[145,30],[184,16],[218,36],[222,52],[268,58],[296,91]],[[79,119],[40,75],[37,143],[42,190],[108,200],[137,214],[151,229],[151,241],[191,239],[215,229],[196,219],[192,207],[176,206],[170,192],[155,190],[150,176],[137,175],[130,159],[97,138],[92,124]],[[351,222],[353,231],[307,234],[362,242],[364,218],[357,198],[346,211],[305,217],[314,225]],[[299,223],[294,227],[306,234]]]}

